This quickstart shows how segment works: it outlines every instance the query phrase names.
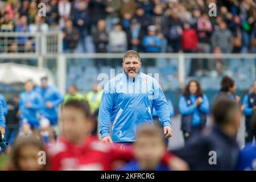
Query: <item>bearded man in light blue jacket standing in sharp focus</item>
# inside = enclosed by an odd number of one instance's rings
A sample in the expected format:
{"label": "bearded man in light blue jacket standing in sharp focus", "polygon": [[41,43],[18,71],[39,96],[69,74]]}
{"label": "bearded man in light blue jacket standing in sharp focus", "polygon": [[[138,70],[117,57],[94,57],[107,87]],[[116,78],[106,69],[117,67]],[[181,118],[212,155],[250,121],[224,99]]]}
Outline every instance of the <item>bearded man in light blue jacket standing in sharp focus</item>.
{"label": "bearded man in light blue jacket standing in sharp focus", "polygon": [[141,65],[139,53],[127,51],[123,56],[124,72],[105,86],[99,111],[99,130],[104,142],[135,142],[138,127],[146,122],[153,123],[153,107],[159,115],[166,138],[172,135],[166,97],[155,78],[139,72]]}

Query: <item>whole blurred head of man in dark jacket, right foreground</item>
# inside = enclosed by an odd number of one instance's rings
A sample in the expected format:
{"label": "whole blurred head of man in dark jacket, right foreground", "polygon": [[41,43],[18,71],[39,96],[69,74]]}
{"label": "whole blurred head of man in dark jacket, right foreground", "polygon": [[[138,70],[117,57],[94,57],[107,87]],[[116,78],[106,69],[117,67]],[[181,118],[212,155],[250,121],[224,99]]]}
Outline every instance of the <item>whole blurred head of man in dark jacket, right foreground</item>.
{"label": "whole blurred head of man in dark jacket, right foreground", "polygon": [[235,138],[241,119],[241,111],[236,102],[226,97],[219,97],[213,104],[212,113],[214,123],[229,137]]}

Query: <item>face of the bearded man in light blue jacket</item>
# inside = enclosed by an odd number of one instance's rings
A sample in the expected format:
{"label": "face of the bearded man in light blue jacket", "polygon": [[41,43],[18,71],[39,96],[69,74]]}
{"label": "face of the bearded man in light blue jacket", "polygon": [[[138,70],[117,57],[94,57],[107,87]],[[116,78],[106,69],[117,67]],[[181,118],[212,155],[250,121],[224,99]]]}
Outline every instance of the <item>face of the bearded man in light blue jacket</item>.
{"label": "face of the bearded man in light blue jacket", "polygon": [[141,69],[141,60],[138,57],[129,57],[123,60],[122,65],[125,74],[130,78],[135,78]]}

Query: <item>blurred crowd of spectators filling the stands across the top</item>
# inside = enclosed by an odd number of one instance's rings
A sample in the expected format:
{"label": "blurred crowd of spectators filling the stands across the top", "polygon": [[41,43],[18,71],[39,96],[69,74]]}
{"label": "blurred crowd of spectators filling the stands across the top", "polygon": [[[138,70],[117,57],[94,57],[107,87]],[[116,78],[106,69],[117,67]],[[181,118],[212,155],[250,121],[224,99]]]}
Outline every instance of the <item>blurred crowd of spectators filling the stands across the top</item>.
{"label": "blurred crowd of spectators filling the stands across the top", "polygon": [[[45,17],[38,16],[40,2]],[[209,15],[209,3],[216,3],[216,16]],[[68,53],[253,53],[255,17],[254,0],[0,1],[1,32],[62,30]],[[10,43],[10,51],[16,44]],[[24,39],[18,44],[33,47]]]}

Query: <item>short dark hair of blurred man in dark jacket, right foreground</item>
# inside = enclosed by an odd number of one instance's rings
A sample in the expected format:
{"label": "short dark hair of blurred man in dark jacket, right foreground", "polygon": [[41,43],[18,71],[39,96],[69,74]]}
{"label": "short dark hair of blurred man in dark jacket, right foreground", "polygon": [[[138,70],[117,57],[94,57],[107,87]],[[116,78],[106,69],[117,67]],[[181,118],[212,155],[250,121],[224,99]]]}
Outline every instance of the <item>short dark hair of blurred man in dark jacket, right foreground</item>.
{"label": "short dark hair of blurred man in dark jacket, right foreground", "polygon": [[217,125],[226,125],[234,110],[239,110],[236,102],[224,96],[218,97],[212,106],[214,122]]}

